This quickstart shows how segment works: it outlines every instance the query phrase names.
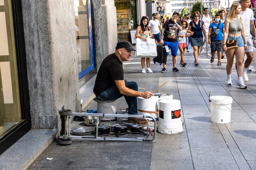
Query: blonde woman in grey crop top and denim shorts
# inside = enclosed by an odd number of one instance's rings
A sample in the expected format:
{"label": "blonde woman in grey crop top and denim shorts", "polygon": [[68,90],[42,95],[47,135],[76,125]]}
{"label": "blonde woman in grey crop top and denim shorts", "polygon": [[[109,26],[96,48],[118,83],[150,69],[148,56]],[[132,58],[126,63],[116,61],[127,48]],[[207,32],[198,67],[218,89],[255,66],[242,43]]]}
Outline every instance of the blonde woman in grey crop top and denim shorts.
{"label": "blonde woman in grey crop top and denim shorts", "polygon": [[[239,3],[233,3],[230,8],[230,13],[225,20],[225,31],[223,38],[223,49],[227,56],[227,81],[226,85],[232,85],[231,82],[231,71],[234,62],[234,56],[236,55],[236,72],[238,76],[236,88],[246,89],[247,85],[244,84],[243,80],[243,59],[244,50],[247,49],[246,36],[244,32],[244,21],[239,16],[241,13],[241,5]],[[237,29],[236,29],[237,28]],[[236,37],[235,37],[236,36]],[[227,41],[236,40],[238,47],[233,50],[227,50]]]}

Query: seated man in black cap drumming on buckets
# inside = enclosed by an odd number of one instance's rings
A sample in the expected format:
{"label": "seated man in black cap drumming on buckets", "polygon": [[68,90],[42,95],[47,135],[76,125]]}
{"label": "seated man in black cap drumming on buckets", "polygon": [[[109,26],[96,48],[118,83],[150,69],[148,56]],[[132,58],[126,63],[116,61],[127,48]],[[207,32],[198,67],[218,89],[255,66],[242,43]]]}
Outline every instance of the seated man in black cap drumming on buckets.
{"label": "seated man in black cap drumming on buckets", "polygon": [[[128,82],[124,79],[122,62],[130,60],[131,51],[135,51],[135,49],[128,41],[119,41],[116,44],[115,53],[108,55],[99,67],[93,93],[103,101],[115,100],[124,96],[128,104],[129,114],[137,115],[137,97],[149,99],[153,93],[140,92],[137,82]],[[145,123],[147,121],[129,118],[129,122]]]}

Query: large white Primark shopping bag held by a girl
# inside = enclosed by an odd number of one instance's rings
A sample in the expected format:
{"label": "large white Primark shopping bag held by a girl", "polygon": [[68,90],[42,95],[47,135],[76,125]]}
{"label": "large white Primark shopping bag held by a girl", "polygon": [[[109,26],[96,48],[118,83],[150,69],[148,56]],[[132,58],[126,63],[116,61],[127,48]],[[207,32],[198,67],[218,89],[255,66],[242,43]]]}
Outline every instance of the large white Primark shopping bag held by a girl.
{"label": "large white Primark shopping bag held by a girl", "polygon": [[155,40],[149,38],[149,35],[148,35],[147,41],[143,41],[143,40],[140,40],[140,38],[137,38],[135,57],[147,57],[147,58],[157,57],[157,45]]}

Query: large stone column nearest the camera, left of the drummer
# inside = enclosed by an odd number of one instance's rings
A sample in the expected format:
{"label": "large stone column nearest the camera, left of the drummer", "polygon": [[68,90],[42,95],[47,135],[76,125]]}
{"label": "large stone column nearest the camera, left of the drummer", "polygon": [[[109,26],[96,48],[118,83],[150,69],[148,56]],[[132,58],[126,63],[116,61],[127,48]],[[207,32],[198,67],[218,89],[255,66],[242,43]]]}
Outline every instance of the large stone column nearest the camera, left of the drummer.
{"label": "large stone column nearest the camera, left of the drummer", "polygon": [[74,1],[22,0],[22,8],[32,128],[58,128],[61,108],[81,108]]}

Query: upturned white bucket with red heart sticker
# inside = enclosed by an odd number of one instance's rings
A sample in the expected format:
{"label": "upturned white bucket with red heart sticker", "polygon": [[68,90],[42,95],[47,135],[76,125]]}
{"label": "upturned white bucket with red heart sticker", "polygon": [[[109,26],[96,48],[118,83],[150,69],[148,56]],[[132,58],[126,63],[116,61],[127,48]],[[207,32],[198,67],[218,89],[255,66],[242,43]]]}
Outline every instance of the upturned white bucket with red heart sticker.
{"label": "upturned white bucket with red heart sticker", "polygon": [[180,100],[160,100],[157,130],[159,133],[164,134],[177,134],[183,132]]}

